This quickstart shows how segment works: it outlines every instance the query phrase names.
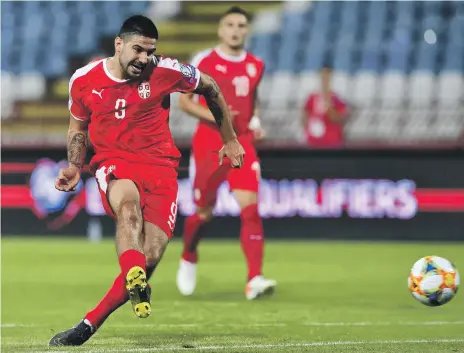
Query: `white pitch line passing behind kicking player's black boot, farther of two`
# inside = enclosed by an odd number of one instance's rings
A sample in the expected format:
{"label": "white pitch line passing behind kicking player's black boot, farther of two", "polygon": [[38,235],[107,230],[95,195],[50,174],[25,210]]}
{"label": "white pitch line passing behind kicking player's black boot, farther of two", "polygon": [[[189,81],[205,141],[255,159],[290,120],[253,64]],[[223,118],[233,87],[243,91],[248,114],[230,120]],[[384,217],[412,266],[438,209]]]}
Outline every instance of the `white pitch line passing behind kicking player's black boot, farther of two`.
{"label": "white pitch line passing behind kicking player's black boot, farther of two", "polygon": [[[115,324],[107,325],[108,328],[124,328],[124,327],[154,327],[154,328],[189,328],[189,327],[293,327],[293,326],[444,326],[444,325],[464,325],[464,321],[417,321],[417,322],[299,322],[299,323],[256,323],[256,324],[194,324],[194,323],[179,323],[179,324]],[[23,324],[1,324],[2,328],[22,328],[22,327],[45,327],[45,325],[23,325]]]}

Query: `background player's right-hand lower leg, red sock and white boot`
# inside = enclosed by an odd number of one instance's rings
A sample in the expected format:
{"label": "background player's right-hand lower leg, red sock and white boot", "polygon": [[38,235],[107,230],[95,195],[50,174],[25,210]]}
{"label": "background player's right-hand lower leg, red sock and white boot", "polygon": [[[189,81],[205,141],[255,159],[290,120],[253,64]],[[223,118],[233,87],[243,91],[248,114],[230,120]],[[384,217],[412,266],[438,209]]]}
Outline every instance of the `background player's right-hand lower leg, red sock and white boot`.
{"label": "background player's right-hand lower leg, red sock and white boot", "polygon": [[248,300],[253,300],[272,294],[277,282],[262,275],[264,231],[258,213],[257,193],[249,190],[233,190],[233,193],[241,209],[240,243],[248,265],[245,295]]}

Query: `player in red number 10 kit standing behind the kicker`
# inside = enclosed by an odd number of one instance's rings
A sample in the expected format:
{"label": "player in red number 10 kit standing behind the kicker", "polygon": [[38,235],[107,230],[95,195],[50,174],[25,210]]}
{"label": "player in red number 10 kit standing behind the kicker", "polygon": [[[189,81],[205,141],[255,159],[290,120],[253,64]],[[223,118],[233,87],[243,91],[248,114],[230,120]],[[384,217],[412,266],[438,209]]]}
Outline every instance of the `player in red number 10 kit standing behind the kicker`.
{"label": "player in red number 10 kit standing behind the kicker", "polygon": [[[198,253],[202,227],[213,215],[216,193],[227,181],[240,206],[240,241],[248,264],[245,286],[247,299],[272,293],[276,281],[262,276],[264,233],[258,213],[260,163],[254,142],[264,136],[258,117],[257,88],[263,76],[264,63],[244,50],[249,16],[239,7],[227,11],[219,23],[220,44],[195,56],[191,62],[218,83],[231,110],[234,129],[245,149],[245,163],[240,170],[230,165],[217,165],[212,150],[221,148],[221,135],[203,97],[193,93],[182,95],[180,107],[199,119],[192,141],[191,168],[194,175],[195,214],[184,224],[184,251],[177,273],[177,287],[183,295],[191,295],[196,286]],[[197,99],[199,98],[199,99]]]}

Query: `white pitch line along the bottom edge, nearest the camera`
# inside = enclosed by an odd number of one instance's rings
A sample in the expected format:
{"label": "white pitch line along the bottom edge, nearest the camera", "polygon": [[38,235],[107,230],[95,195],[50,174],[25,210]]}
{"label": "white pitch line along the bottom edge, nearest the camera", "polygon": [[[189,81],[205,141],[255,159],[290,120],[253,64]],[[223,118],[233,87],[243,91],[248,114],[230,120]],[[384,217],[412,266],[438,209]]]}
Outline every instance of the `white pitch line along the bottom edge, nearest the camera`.
{"label": "white pitch line along the bottom edge, nearest the camera", "polygon": [[[184,347],[153,347],[153,348],[116,348],[116,349],[93,349],[86,351],[87,353],[113,353],[113,352],[172,352],[172,351],[206,351],[206,350],[248,350],[248,349],[268,349],[268,348],[308,348],[308,347],[324,347],[324,346],[366,346],[366,345],[381,345],[381,344],[413,344],[413,343],[464,343],[464,338],[455,339],[435,339],[435,340],[392,340],[392,341],[333,341],[333,342],[304,342],[304,343],[282,343],[282,344],[244,344],[232,346],[198,346],[192,348]],[[36,353],[49,353],[50,351],[41,351]],[[57,353],[67,353],[69,351],[53,351]]]}

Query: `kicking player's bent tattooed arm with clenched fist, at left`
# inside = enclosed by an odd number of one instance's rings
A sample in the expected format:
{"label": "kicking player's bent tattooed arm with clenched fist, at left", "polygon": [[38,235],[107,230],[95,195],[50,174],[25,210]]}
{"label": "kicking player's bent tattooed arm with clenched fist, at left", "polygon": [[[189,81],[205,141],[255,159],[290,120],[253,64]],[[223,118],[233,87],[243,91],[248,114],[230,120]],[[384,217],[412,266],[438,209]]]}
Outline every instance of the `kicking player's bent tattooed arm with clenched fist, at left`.
{"label": "kicking player's bent tattooed arm with clenched fist, at left", "polygon": [[62,168],[55,181],[55,187],[60,191],[74,191],[80,180],[80,172],[84,166],[87,153],[87,125],[70,117],[68,129],[68,167]]}

